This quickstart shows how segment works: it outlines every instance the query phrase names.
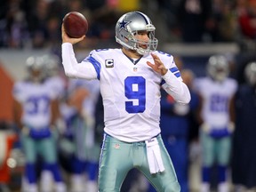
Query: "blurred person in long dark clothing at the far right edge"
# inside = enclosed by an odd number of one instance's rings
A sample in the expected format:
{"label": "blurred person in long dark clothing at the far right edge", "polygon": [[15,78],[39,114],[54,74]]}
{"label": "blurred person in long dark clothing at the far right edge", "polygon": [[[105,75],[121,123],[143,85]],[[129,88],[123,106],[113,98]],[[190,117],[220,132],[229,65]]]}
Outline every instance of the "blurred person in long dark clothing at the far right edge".
{"label": "blurred person in long dark clothing at the far right edge", "polygon": [[[256,61],[245,64],[245,81],[236,92],[236,130],[234,132],[232,181],[237,192],[256,187]],[[254,189],[254,190],[253,190]]]}

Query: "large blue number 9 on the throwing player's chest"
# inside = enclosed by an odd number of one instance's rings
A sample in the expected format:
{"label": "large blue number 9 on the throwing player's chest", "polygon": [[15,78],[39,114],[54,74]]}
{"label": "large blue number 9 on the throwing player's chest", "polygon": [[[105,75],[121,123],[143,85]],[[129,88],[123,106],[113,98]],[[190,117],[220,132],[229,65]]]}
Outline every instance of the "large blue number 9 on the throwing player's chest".
{"label": "large blue number 9 on the throwing player's chest", "polygon": [[125,101],[128,113],[143,113],[146,105],[146,80],[142,76],[128,76],[124,80]]}

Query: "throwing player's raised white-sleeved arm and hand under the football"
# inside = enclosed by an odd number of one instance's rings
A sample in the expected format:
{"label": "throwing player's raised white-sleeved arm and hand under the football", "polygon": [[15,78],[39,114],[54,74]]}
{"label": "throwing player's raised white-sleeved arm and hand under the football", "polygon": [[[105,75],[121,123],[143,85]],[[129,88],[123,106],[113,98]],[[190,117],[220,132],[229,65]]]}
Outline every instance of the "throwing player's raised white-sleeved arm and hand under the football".
{"label": "throwing player's raised white-sleeved arm and hand under the football", "polygon": [[62,33],[62,45],[61,45],[61,55],[62,55],[62,65],[65,70],[66,76],[84,78],[84,79],[96,79],[97,73],[95,68],[90,62],[88,65],[78,63],[76,60],[75,52],[73,50],[73,44],[76,44],[84,39],[85,36],[80,38],[70,38],[66,34],[64,27],[61,28]]}

